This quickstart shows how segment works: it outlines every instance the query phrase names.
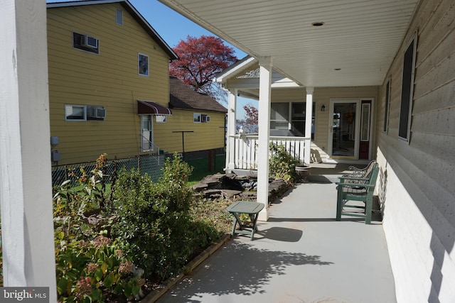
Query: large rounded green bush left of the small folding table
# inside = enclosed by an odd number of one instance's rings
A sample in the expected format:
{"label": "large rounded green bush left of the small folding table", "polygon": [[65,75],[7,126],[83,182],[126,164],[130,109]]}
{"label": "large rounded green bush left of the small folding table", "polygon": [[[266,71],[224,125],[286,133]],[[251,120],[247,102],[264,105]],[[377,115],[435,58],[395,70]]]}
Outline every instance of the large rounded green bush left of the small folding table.
{"label": "large rounded green bush left of the small folding table", "polygon": [[166,160],[157,183],[135,170],[119,173],[113,194],[118,218],[112,233],[129,243],[128,255],[146,275],[164,280],[178,274],[198,248],[220,236],[213,227],[191,219],[192,191],[186,184],[191,170],[174,155]]}

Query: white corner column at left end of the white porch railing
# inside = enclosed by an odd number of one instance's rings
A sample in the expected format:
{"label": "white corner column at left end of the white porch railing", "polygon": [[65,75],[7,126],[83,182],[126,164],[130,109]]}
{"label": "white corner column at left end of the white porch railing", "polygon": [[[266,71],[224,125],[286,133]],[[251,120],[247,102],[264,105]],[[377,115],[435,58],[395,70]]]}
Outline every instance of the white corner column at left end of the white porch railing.
{"label": "white corner column at left end of the white porch railing", "polygon": [[237,108],[237,89],[232,89],[229,91],[229,98],[228,98],[228,129],[227,132],[227,140],[226,140],[226,172],[232,172],[235,169],[235,126],[237,125],[237,112],[235,109]]}

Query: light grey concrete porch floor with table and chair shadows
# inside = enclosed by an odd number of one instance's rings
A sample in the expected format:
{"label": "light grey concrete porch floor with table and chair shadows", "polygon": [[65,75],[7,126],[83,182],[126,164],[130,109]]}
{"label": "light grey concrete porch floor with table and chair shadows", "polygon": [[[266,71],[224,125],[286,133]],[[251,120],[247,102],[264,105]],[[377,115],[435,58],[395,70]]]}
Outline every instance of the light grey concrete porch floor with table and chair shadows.
{"label": "light grey concrete porch floor with table and chair shadows", "polygon": [[396,302],[381,221],[335,221],[348,165],[318,166],[269,206],[254,241],[235,236],[158,302]]}

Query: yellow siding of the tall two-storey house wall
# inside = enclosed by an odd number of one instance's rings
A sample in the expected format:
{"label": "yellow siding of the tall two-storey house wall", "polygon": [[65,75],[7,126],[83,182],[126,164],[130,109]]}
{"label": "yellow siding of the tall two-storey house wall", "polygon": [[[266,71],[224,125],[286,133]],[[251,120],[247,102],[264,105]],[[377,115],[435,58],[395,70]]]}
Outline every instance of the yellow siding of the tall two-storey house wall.
{"label": "yellow siding of the tall two-storey house wall", "polygon": [[[124,25],[115,23],[121,9]],[[99,39],[99,55],[73,48],[73,31]],[[138,75],[149,55],[149,77]],[[168,104],[168,55],[120,5],[48,9],[50,131],[59,164],[141,154],[137,99]],[[65,104],[104,106],[105,121],[65,121]]]}

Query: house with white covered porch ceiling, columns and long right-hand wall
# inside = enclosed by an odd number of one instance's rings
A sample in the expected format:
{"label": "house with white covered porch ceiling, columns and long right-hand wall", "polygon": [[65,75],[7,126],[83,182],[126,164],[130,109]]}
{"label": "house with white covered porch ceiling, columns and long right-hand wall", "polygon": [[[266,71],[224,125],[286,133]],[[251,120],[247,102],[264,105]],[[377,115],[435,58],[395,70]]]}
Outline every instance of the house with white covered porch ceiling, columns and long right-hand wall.
{"label": "house with white covered porch ceiling, columns and long right-hand wall", "polygon": [[228,169],[237,95],[259,99],[258,201],[267,204],[268,129],[296,128],[309,143],[314,120],[323,162],[378,160],[397,301],[454,302],[454,1],[160,1],[252,56],[218,81],[230,90]]}

